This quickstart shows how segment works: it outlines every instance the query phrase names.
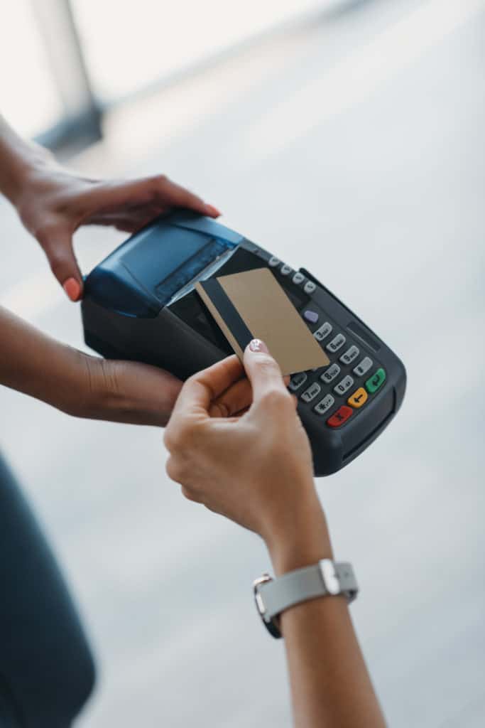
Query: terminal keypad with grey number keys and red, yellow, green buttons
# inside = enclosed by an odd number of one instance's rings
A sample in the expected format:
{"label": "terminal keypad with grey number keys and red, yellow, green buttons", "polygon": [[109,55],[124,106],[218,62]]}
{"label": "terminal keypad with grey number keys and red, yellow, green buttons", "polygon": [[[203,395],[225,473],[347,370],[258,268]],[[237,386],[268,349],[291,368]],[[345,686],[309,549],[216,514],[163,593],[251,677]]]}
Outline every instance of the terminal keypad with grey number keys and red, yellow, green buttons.
{"label": "terminal keypad with grey number keys and red, yellow, green buttons", "polygon": [[348,330],[339,331],[340,327],[332,317],[319,309],[312,297],[317,288],[315,282],[275,256],[268,264],[280,277],[283,287],[287,281],[311,297],[299,308],[300,314],[330,360],[325,368],[293,374],[288,389],[296,392],[300,405],[308,405],[326,427],[342,427],[365,411],[373,397],[379,394],[385,384],[385,370],[374,357],[362,351],[361,344],[352,341]]}

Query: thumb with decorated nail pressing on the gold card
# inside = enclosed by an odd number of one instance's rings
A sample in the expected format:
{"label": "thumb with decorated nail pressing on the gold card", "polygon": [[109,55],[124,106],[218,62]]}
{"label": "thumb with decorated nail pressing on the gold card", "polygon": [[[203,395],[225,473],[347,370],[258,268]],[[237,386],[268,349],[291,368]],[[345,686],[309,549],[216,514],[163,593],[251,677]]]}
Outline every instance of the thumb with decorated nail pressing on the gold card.
{"label": "thumb with decorated nail pressing on the gold card", "polygon": [[260,339],[252,339],[244,352],[244,368],[252,386],[253,403],[257,404],[270,392],[278,400],[292,397],[286,389],[281,369],[268,352],[268,347]]}

